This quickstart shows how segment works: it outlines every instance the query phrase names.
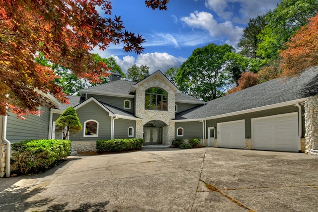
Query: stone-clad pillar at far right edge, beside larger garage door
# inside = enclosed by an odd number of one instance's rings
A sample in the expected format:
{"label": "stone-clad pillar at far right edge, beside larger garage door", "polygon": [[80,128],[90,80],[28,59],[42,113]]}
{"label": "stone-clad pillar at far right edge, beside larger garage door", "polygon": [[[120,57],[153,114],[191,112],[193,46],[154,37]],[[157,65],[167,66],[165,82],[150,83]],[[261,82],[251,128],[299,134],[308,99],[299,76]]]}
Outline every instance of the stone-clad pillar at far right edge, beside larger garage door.
{"label": "stone-clad pillar at far right edge, beside larger garage door", "polygon": [[305,101],[305,153],[315,154],[318,149],[318,95],[311,96]]}

